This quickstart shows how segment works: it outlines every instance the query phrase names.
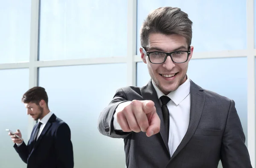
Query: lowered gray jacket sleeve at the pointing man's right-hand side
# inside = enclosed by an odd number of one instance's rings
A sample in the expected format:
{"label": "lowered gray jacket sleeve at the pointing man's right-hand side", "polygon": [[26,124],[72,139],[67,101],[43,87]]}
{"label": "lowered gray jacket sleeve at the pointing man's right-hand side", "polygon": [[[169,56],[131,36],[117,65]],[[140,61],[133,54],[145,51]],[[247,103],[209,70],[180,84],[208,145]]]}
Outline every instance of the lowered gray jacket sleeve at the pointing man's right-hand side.
{"label": "lowered gray jacket sleeve at the pointing man's right-hand side", "polygon": [[221,145],[223,168],[252,168],[241,121],[231,100]]}

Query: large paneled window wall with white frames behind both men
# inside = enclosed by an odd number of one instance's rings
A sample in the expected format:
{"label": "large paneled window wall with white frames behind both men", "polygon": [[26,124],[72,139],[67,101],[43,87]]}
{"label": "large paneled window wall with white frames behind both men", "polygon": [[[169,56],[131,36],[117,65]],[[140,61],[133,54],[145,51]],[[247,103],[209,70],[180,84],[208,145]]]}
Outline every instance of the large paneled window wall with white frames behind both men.
{"label": "large paneled window wall with white frames behind both men", "polygon": [[125,167],[123,139],[101,135],[97,120],[116,89],[148,83],[147,66],[138,50],[140,27],[148,12],[161,6],[179,7],[192,20],[195,49],[189,78],[236,102],[255,167],[254,0],[0,0],[0,4],[1,168],[26,167],[5,129],[20,129],[27,143],[35,122],[26,116],[20,98],[38,85],[38,79],[49,94],[52,112],[70,125],[75,168]]}

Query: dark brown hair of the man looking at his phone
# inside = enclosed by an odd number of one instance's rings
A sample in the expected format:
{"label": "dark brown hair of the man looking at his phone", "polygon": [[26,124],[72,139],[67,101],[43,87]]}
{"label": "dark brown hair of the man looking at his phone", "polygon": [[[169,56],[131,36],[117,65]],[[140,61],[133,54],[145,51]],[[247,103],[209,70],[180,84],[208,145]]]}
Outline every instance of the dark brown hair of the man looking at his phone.
{"label": "dark brown hair of the man looking at his phone", "polygon": [[26,93],[23,94],[21,101],[23,103],[35,103],[39,104],[41,100],[44,100],[48,106],[48,96],[43,87],[32,87]]}

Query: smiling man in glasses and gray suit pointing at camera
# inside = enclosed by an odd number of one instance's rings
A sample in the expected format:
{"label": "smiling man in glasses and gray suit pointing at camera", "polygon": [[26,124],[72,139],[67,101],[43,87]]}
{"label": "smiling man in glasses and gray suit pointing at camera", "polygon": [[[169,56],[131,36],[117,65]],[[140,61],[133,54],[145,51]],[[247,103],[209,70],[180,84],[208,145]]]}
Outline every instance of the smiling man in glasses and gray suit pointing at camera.
{"label": "smiling man in glasses and gray suit pointing at camera", "polygon": [[148,14],[140,54],[151,80],[123,87],[99,116],[100,133],[123,138],[127,168],[252,168],[233,100],[186,75],[192,21],[179,8]]}

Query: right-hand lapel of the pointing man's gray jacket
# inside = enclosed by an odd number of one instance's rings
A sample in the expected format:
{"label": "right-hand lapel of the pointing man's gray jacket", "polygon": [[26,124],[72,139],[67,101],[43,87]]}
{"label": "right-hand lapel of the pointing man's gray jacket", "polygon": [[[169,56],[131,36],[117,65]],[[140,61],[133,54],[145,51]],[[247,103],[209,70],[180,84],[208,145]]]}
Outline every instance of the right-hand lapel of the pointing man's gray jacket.
{"label": "right-hand lapel of the pointing man's gray jacket", "polygon": [[189,127],[188,130],[180,142],[180,145],[177,147],[176,151],[171,157],[171,160],[177,156],[177,154],[184,148],[184,146],[192,138],[195,130],[198,126],[198,123],[201,118],[201,114],[204,108],[205,94],[203,89],[196,85],[193,81],[190,80],[190,118],[189,118]]}

